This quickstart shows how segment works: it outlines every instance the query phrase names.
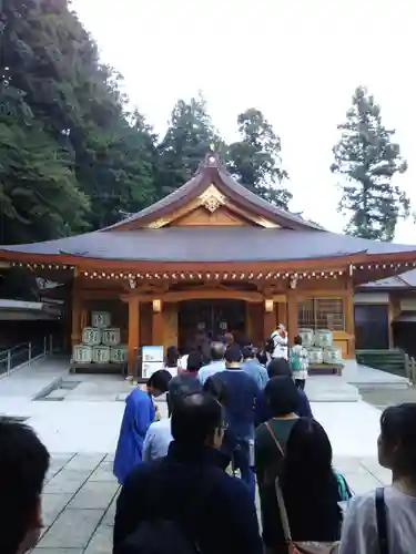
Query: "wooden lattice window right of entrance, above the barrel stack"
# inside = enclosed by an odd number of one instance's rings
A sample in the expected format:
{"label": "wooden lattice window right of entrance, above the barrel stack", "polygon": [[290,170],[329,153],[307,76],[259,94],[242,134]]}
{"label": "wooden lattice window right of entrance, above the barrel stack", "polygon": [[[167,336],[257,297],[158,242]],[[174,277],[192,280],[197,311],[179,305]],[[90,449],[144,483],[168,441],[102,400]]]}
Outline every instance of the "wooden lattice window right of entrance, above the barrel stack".
{"label": "wooden lattice window right of entrance, above the barrel stack", "polygon": [[310,298],[297,304],[298,327],[344,330],[344,302],[342,298]]}

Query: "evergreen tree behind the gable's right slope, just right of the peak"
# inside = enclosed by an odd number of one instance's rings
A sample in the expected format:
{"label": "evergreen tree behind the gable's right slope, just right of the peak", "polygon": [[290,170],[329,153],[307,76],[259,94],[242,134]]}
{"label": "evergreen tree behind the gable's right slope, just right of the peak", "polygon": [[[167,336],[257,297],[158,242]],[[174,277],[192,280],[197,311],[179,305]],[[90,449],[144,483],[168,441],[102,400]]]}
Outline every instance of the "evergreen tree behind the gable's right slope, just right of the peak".
{"label": "evergreen tree behind the gable's right slope, just right of the peak", "polygon": [[282,183],[281,138],[260,110],[250,109],[237,117],[241,141],[229,146],[227,162],[239,182],[275,206],[287,209],[292,194]]}

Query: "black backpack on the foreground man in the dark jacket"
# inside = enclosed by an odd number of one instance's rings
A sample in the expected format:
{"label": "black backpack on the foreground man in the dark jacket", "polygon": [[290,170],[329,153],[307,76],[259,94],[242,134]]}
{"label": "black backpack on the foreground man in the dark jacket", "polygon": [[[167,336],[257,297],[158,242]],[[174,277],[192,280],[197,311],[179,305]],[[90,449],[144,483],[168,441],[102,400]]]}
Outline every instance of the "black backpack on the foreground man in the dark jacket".
{"label": "black backpack on the foreground man in the dark jacket", "polygon": [[[153,497],[154,516],[140,523],[116,548],[116,554],[197,554],[201,548],[196,540],[196,526],[203,521],[206,499],[213,489],[213,478],[201,475],[196,482],[202,483],[190,496],[193,505],[189,506],[192,515],[185,522],[173,519],[158,517],[158,500],[163,502],[163,491]],[[156,492],[155,492],[156,493]],[[186,506],[187,507],[187,506]]]}

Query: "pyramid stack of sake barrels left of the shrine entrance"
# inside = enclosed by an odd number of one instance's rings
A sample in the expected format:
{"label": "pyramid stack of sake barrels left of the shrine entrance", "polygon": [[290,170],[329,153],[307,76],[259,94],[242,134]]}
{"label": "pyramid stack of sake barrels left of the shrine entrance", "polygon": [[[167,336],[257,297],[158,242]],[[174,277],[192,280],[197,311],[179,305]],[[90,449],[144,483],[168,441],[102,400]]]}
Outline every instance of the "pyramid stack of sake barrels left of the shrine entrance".
{"label": "pyramid stack of sake barrels left of the shrine entrance", "polygon": [[82,329],[82,343],[73,348],[75,363],[124,363],[128,348],[120,345],[120,328],[111,327],[109,311],[93,311],[91,327]]}

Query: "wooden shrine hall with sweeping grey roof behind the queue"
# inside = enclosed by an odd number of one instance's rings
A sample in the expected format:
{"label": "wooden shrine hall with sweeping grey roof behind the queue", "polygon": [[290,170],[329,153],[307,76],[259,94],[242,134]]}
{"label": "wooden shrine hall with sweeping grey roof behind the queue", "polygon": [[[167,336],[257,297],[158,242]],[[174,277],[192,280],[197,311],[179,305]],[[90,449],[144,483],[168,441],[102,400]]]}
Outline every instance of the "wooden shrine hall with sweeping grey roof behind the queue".
{"label": "wooden shrine hall with sweeping grey roof behind the queue", "polygon": [[416,267],[416,246],[326,232],[251,193],[210,153],[142,212],[94,233],[2,246],[0,259],[71,284],[72,347],[92,314],[110,314],[104,326],[118,330],[133,372],[141,347],[184,349],[197,329],[225,326],[254,343],[278,322],[291,342],[301,327],[331,329],[354,357],[355,287]]}

